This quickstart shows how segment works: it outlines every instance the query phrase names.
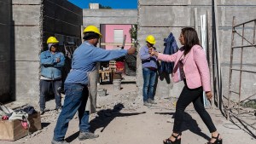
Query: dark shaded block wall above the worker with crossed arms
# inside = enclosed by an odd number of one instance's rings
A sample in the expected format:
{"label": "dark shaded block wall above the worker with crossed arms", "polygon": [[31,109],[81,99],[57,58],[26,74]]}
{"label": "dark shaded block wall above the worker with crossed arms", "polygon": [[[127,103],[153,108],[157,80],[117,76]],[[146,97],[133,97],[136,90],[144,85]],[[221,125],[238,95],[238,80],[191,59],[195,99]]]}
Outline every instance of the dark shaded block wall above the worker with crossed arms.
{"label": "dark shaded block wall above the worker with crossed arms", "polygon": [[55,34],[64,37],[74,37],[76,43],[81,43],[81,26],[83,11],[79,7],[65,0],[44,0],[43,14],[43,43]]}

